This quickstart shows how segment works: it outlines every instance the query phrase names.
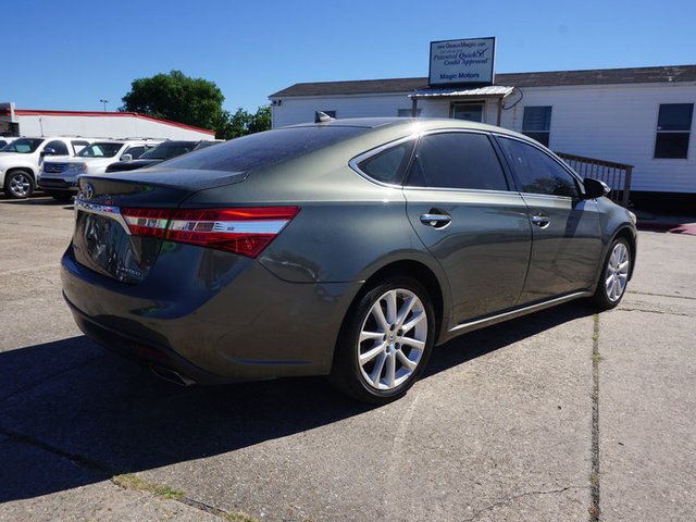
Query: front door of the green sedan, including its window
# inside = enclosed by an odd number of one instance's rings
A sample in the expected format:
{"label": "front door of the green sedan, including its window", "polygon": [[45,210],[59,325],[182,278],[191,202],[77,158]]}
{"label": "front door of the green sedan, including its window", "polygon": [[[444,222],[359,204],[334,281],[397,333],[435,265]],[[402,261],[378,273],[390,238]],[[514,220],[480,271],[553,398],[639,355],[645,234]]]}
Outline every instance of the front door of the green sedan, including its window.
{"label": "front door of the green sedan, including its window", "polygon": [[532,224],[532,258],[520,303],[592,288],[601,256],[597,201],[582,199],[580,181],[542,148],[512,137],[496,139]]}

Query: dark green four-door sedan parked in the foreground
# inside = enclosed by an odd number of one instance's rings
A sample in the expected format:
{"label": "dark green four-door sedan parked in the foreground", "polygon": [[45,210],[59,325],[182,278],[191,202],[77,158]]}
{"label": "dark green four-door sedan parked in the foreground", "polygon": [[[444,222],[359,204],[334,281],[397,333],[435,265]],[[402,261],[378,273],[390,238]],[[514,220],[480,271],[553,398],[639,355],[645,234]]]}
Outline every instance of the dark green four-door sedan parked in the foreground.
{"label": "dark green four-door sedan parked in the foreground", "polygon": [[339,120],[84,175],[62,283],[97,343],[179,383],[330,375],[406,394],[431,349],[616,307],[635,216],[551,151],[457,120]]}

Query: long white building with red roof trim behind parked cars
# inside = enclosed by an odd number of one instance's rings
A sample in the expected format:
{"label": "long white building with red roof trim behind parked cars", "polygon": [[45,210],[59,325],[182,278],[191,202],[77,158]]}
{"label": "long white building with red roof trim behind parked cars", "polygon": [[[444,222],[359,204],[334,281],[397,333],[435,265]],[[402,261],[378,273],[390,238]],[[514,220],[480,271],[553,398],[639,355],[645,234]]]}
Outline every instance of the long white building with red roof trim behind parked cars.
{"label": "long white building with red roof trim behind parked cars", "polygon": [[213,139],[214,130],[136,112],[32,111],[0,103],[0,136]]}

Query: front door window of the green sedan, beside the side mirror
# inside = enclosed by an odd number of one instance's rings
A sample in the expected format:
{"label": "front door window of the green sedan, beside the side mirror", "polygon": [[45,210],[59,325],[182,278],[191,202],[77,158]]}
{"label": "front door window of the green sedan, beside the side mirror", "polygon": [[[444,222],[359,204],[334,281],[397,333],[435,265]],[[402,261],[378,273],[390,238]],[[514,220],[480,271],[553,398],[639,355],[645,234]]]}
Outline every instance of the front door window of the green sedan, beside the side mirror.
{"label": "front door window of the green sedan, beside the side mirror", "polygon": [[522,183],[522,191],[577,197],[575,178],[536,147],[515,139],[499,138],[502,150]]}

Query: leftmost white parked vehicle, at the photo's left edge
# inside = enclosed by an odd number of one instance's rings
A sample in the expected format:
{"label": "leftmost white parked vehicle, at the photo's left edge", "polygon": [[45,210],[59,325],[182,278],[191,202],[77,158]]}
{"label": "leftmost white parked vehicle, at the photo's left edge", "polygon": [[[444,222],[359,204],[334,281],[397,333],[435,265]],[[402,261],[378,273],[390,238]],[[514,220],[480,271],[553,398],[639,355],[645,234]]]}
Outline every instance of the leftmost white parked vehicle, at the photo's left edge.
{"label": "leftmost white parked vehicle, at the photo's left edge", "polygon": [[11,198],[28,198],[45,157],[70,159],[87,145],[89,140],[80,137],[16,138],[0,149],[0,188]]}

